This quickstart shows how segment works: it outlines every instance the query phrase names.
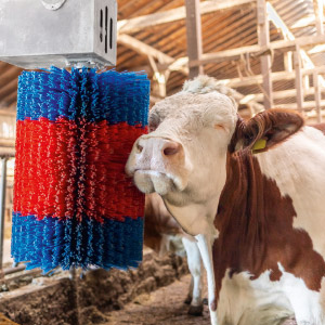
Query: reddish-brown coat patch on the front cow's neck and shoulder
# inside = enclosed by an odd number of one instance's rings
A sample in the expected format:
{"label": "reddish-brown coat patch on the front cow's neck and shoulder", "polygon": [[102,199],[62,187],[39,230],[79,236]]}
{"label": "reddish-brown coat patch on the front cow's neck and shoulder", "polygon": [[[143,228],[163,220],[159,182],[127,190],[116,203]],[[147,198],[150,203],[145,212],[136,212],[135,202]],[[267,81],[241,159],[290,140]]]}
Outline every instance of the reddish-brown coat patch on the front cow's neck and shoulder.
{"label": "reddish-brown coat patch on the front cow's neck and shoulder", "polygon": [[[227,154],[227,178],[214,220],[219,237],[213,244],[217,295],[222,278],[249,272],[258,278],[270,270],[270,280],[278,281],[282,272],[301,277],[312,290],[321,289],[325,263],[313,250],[310,236],[292,226],[296,211],[290,197],[281,192],[261,172],[257,158],[249,152]],[[313,265],[313,271],[306,263]]]}

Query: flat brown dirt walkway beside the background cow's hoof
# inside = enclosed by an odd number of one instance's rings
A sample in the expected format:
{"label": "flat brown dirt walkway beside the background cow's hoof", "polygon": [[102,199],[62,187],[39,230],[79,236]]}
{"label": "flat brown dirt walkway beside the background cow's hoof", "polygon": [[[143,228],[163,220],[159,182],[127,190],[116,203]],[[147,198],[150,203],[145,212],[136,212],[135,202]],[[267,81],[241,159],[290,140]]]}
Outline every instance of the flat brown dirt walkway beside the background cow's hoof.
{"label": "flat brown dirt walkway beside the background cow's hoof", "polygon": [[152,294],[139,296],[122,310],[105,314],[107,322],[101,325],[210,325],[208,307],[203,316],[190,316],[183,301],[187,295],[190,275]]}

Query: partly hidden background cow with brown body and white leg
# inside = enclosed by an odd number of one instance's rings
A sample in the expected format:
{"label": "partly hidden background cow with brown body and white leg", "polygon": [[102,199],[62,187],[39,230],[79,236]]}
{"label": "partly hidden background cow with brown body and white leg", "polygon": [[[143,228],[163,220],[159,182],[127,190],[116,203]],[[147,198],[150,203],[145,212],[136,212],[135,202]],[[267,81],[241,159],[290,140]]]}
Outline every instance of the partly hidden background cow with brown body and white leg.
{"label": "partly hidden background cow with brown body and white leg", "polygon": [[159,256],[174,252],[186,255],[191,273],[191,284],[185,303],[190,304],[188,314],[200,316],[204,310],[202,299],[203,273],[198,246],[193,236],[187,235],[172,218],[157,193],[145,196],[144,245]]}

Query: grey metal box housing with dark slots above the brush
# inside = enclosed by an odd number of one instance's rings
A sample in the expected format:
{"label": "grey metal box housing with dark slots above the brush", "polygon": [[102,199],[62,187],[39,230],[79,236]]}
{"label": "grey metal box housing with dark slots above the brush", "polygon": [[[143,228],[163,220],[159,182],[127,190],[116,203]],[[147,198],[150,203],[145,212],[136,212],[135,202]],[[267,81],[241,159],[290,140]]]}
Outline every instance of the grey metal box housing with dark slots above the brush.
{"label": "grey metal box housing with dark slots above the brush", "polygon": [[116,0],[0,0],[0,61],[23,68],[116,64]]}

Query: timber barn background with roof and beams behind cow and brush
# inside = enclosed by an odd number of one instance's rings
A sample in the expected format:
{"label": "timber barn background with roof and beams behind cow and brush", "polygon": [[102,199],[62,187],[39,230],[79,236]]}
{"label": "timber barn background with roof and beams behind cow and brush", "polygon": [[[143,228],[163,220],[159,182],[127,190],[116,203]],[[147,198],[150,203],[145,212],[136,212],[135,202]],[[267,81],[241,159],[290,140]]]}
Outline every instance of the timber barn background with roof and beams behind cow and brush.
{"label": "timber barn background with roof and beams behind cow and brush", "polygon": [[[239,114],[325,117],[324,0],[118,0],[118,72],[145,72],[151,106],[199,74],[236,92]],[[0,3],[1,8],[1,3]],[[108,69],[112,67],[108,67]],[[17,78],[0,62],[0,281],[10,258]],[[2,273],[1,273],[2,272]]]}

